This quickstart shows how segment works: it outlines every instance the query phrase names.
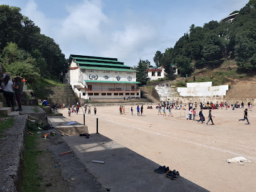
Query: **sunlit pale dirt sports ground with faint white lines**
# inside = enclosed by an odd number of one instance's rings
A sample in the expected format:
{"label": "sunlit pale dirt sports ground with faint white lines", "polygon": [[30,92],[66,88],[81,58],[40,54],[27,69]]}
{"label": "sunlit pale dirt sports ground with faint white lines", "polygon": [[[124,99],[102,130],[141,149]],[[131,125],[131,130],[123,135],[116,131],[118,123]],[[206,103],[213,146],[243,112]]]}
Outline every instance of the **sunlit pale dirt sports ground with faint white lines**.
{"label": "sunlit pale dirt sports ground with faint white lines", "polygon": [[[94,115],[92,104],[91,115],[85,115],[89,133],[96,132],[96,118],[99,118],[100,134],[158,164],[178,170],[181,176],[205,189],[256,191],[254,110],[248,111],[250,125],[246,121],[238,122],[243,118],[243,109],[217,109],[212,112],[215,125],[210,122],[206,126],[181,117],[188,110],[172,110],[174,117],[163,117],[157,115],[156,105],[154,109],[144,106],[144,115],[137,116],[137,106],[133,106],[134,115],[131,106],[125,107],[125,115],[119,114],[118,106],[97,107]],[[68,117],[67,109],[59,112]],[[203,114],[208,117],[208,110],[203,110]],[[83,123],[82,110],[78,115],[72,114],[70,120]],[[243,163],[244,166],[227,163],[227,159],[240,156],[252,163]]]}

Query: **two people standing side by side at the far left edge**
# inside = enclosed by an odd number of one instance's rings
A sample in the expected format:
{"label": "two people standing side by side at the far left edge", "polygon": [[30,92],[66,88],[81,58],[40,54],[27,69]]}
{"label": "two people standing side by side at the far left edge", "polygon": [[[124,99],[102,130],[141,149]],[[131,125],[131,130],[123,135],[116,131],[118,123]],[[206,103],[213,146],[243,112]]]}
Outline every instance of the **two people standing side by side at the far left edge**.
{"label": "two people standing side by side at the far left edge", "polygon": [[20,77],[15,77],[14,82],[11,80],[9,75],[4,75],[3,82],[0,86],[0,92],[3,92],[4,98],[8,107],[11,107],[11,110],[14,111],[14,93],[16,101],[18,103],[18,109],[16,111],[22,111],[21,107],[21,95],[23,93],[23,84],[21,83]]}

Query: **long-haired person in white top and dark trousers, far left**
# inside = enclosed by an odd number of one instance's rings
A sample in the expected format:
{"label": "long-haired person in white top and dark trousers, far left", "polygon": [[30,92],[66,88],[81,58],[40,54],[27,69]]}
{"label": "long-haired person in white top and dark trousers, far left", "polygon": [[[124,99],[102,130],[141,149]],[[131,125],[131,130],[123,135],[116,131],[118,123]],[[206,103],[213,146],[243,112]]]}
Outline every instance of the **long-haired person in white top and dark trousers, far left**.
{"label": "long-haired person in white top and dark trousers, far left", "polygon": [[3,87],[3,93],[6,99],[7,106],[11,107],[11,110],[15,110],[14,100],[13,100],[13,97],[14,97],[13,82],[10,80],[9,75],[6,75],[4,77],[2,87]]}

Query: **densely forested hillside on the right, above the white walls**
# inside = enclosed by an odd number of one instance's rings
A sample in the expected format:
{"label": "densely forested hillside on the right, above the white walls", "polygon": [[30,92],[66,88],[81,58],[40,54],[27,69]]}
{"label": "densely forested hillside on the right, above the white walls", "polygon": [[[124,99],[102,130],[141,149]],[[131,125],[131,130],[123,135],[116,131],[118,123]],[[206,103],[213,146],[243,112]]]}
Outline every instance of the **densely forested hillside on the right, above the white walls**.
{"label": "densely forested hillside on the right, above the white walls", "polygon": [[192,24],[173,48],[164,53],[156,51],[154,56],[156,65],[164,66],[168,75],[175,64],[182,77],[195,69],[217,68],[227,60],[235,60],[241,72],[256,72],[256,0],[240,9],[233,23],[210,21],[203,27]]}

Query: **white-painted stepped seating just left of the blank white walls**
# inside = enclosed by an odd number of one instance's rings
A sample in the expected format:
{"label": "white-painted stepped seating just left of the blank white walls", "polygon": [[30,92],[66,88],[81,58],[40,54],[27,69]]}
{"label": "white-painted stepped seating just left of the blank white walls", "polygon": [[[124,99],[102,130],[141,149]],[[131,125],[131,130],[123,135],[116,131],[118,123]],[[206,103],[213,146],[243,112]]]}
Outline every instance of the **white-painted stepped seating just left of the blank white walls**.
{"label": "white-painted stepped seating just left of the blank white walls", "polygon": [[172,101],[176,100],[179,96],[179,93],[177,92],[177,87],[158,87],[156,86],[156,91],[160,97],[160,100],[164,101]]}

